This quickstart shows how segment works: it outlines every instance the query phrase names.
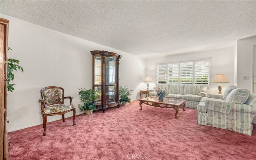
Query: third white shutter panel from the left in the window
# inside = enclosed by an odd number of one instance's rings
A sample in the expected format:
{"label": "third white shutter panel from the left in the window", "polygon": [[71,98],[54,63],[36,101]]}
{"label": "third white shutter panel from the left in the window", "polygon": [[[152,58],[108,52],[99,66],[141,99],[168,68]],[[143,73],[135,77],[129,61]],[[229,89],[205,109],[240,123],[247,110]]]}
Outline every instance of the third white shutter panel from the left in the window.
{"label": "third white shutter panel from the left in the window", "polygon": [[180,63],[180,84],[193,84],[193,62]]}

